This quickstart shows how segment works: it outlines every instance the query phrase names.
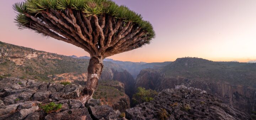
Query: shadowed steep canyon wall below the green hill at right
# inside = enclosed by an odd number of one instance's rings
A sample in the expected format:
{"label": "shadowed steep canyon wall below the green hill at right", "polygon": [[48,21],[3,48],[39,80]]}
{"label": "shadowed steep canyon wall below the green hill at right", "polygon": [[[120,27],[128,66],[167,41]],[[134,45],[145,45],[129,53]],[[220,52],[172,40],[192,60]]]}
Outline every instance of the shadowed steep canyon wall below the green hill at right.
{"label": "shadowed steep canyon wall below the green hill at right", "polygon": [[182,77],[166,77],[165,74],[158,70],[146,69],[142,70],[138,75],[135,86],[161,91],[163,89],[175,88],[176,85],[185,85],[205,90],[209,94],[217,96],[224,103],[231,104],[247,113],[251,113],[256,108],[256,90],[242,85],[202,82]]}

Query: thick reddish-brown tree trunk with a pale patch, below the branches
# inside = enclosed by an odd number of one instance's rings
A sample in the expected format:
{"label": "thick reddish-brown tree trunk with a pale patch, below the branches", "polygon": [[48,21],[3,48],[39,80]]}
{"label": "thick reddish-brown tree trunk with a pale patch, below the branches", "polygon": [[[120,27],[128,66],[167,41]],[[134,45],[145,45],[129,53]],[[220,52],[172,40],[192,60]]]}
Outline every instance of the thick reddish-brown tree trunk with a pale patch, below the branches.
{"label": "thick reddish-brown tree trunk with a pale patch, below the branches", "polygon": [[85,93],[92,98],[95,89],[98,85],[98,79],[100,78],[102,68],[103,68],[103,57],[102,56],[92,56],[88,66],[87,82],[85,85]]}

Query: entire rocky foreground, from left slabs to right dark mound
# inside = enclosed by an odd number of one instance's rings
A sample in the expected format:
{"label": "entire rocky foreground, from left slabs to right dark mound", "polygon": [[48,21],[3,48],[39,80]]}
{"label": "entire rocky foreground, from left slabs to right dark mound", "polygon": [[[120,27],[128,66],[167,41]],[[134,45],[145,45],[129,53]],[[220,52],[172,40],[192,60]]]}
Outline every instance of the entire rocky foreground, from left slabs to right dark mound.
{"label": "entire rocky foreground, from left slabs to right dark mound", "polygon": [[[153,101],[125,110],[114,110],[101,101],[80,101],[81,85],[39,83],[18,78],[0,79],[0,120],[248,120],[240,112],[217,97],[194,88],[177,86],[165,89]],[[42,106],[62,104],[47,113]]]}

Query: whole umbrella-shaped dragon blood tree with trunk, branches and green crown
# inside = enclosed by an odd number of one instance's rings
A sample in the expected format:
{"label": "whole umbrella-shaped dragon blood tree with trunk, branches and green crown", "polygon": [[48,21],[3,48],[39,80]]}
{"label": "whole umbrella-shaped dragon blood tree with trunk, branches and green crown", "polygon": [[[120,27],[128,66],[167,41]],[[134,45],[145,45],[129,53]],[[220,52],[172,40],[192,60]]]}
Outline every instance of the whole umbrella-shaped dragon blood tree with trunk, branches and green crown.
{"label": "whole umbrella-shaped dragon blood tree with trunk, branches and green crown", "polygon": [[31,29],[84,49],[91,56],[84,96],[92,97],[103,59],[149,44],[153,26],[111,0],[26,0],[13,5],[19,29]]}

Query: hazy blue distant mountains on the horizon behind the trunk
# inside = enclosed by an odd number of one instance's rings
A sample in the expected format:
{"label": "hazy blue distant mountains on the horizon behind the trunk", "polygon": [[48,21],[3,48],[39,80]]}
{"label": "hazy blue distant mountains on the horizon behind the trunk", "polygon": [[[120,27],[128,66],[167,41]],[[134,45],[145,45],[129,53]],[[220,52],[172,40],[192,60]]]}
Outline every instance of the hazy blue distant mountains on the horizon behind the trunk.
{"label": "hazy blue distant mountains on the horizon behind the trunk", "polygon": [[[76,56],[74,55],[74,57],[76,57]],[[82,56],[79,58],[80,59],[90,59],[89,56]],[[152,62],[152,63],[130,62],[130,61],[113,60],[113,59],[108,59],[108,58],[104,59],[103,61],[113,62],[114,64],[120,65],[124,70],[127,70],[130,74],[132,74],[133,78],[136,78],[142,69],[145,69],[145,68],[158,69],[160,67],[166,66],[171,63],[171,62]]]}

